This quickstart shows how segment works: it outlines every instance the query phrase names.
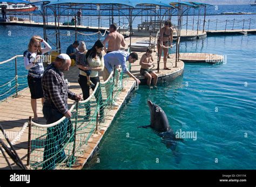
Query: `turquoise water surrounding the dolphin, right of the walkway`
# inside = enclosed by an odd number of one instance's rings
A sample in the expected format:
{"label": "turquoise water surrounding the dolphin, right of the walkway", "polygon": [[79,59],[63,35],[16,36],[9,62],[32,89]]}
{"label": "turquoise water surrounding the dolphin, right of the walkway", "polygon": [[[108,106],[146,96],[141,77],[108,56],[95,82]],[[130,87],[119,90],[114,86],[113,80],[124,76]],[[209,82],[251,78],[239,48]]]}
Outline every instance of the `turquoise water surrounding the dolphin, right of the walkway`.
{"label": "turquoise water surrounding the dolphin, right of the walkway", "polygon": [[[255,41],[235,35],[181,42],[181,52],[223,54],[227,62],[185,64],[183,76],[158,90],[140,86],[85,169],[256,169]],[[161,106],[174,132],[197,132],[197,140],[178,142],[179,163],[153,130],[137,128],[150,124],[147,99]]]}

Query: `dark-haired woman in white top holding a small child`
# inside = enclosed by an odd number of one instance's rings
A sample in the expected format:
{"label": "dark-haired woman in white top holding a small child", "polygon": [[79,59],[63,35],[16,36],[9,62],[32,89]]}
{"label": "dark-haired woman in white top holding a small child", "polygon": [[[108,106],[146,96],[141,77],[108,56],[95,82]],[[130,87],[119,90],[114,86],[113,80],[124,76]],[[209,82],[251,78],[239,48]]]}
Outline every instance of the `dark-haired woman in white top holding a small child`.
{"label": "dark-haired woman in white top holding a small child", "polygon": [[[77,67],[83,70],[91,70],[91,75],[90,79],[93,84],[95,84],[94,87],[90,87],[87,85],[87,77],[86,73],[82,70],[80,70],[79,76],[78,76],[78,83],[83,91],[83,99],[87,99],[90,96],[90,88],[92,90],[95,89],[97,82],[99,82],[99,71],[103,71],[104,69],[104,58],[102,55],[104,45],[100,40],[97,40],[93,47],[89,49],[86,53],[86,60],[87,63],[89,64],[89,67],[85,67],[81,64],[78,64]],[[95,93],[96,101],[100,106],[99,109],[99,121],[100,123],[104,122],[104,107],[103,107],[103,102],[102,102],[102,93],[100,90],[100,87],[98,87],[96,93]],[[89,119],[91,110],[90,110],[90,103],[86,104],[86,116],[85,119]]]}

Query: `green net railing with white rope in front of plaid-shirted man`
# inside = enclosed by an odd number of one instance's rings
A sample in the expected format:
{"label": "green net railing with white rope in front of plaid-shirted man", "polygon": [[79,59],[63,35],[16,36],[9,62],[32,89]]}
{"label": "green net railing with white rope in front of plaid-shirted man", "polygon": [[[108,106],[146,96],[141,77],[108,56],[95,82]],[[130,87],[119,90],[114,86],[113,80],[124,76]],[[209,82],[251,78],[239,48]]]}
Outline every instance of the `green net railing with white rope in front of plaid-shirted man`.
{"label": "green net railing with white rope in front of plaid-shirted man", "polygon": [[[71,118],[40,125],[30,121],[28,167],[31,169],[71,169],[93,133],[106,122],[123,86],[123,73],[117,71],[105,82],[99,82],[90,97],[71,106]],[[115,86],[116,82],[120,82]]]}

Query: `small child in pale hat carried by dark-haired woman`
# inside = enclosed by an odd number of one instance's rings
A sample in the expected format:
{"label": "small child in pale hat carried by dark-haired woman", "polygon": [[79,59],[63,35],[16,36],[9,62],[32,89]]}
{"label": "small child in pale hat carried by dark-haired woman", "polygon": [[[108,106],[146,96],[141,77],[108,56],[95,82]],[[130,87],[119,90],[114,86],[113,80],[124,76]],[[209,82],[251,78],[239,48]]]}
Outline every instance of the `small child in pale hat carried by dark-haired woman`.
{"label": "small child in pale hat carried by dark-haired woman", "polygon": [[[78,52],[76,53],[76,65],[80,64],[82,66],[85,67],[89,67],[89,64],[86,61],[86,46],[84,41],[81,41],[79,46],[78,46]],[[92,83],[92,81],[90,80],[90,75],[91,75],[91,70],[83,70],[81,68],[78,68],[82,71],[84,71],[86,73],[86,77],[87,77],[87,85],[89,87],[94,87],[95,84]]]}

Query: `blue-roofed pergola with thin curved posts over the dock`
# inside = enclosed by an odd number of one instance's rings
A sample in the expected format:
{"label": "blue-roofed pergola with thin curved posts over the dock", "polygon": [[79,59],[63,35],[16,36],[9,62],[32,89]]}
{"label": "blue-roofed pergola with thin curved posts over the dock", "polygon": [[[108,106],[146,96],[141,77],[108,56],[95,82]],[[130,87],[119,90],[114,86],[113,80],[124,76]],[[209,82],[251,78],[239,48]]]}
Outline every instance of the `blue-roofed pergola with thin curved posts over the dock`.
{"label": "blue-roofed pergola with thin curved posts over the dock", "polygon": [[[38,3],[38,2],[35,2]],[[75,1],[69,1],[69,0],[53,0],[53,1],[43,1],[42,7],[42,16],[43,16],[43,29],[44,29],[44,39],[47,41],[47,33],[46,33],[46,24],[47,24],[47,10],[51,9],[55,16],[55,30],[56,30],[56,48],[60,51],[61,45],[60,45],[60,32],[59,32],[59,24],[60,24],[60,16],[63,12],[69,9],[73,10],[95,10],[98,15],[98,39],[100,37],[100,16],[103,15],[104,11],[109,11],[109,14],[106,14],[104,16],[111,17],[111,23],[114,23],[114,15],[116,15],[114,12],[117,11],[117,15],[119,17],[119,24],[120,24],[120,16],[125,16],[129,23],[129,31],[130,31],[130,52],[131,52],[131,37],[132,37],[132,23],[134,19],[138,16],[143,17],[143,11],[147,12],[147,15],[150,15],[150,27],[152,27],[152,15],[154,15],[154,19],[159,23],[159,31],[161,25],[163,22],[163,19],[165,16],[169,16],[169,19],[171,19],[171,12],[172,10],[177,12],[178,17],[178,24],[177,24],[177,42],[176,42],[176,65],[177,67],[177,61],[179,61],[179,44],[180,44],[180,32],[182,27],[182,19],[184,13],[191,9],[191,8],[198,8],[198,17],[200,16],[200,7],[203,6],[204,11],[204,26],[203,26],[203,32],[205,27],[205,18],[206,18],[206,5],[205,3],[197,3],[197,2],[180,2],[180,1],[160,1],[160,0],[138,0],[138,1],[129,1],[129,0],[120,0],[120,1],[104,1],[104,0],[98,0],[97,2],[92,0],[75,0]],[[62,10],[61,10],[62,9]],[[64,9],[64,10],[63,10]],[[126,11],[126,12],[125,12]],[[127,11],[129,11],[127,13]],[[137,11],[137,12],[136,12]],[[174,12],[173,11],[173,12]],[[136,13],[133,13],[136,12]],[[150,13],[150,14],[149,14]],[[199,26],[199,23],[198,23]],[[197,27],[198,27],[197,26]],[[75,39],[77,40],[77,23],[75,20]],[[119,29],[120,32],[120,29]],[[197,34],[198,34],[198,28],[197,28]],[[151,30],[150,30],[150,46],[151,46]],[[158,34],[157,34],[158,37]],[[159,73],[159,63],[160,63],[160,55],[158,54],[158,68],[157,71]]]}

